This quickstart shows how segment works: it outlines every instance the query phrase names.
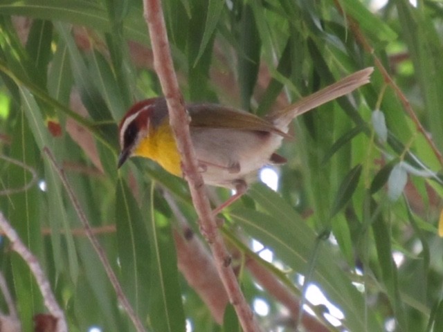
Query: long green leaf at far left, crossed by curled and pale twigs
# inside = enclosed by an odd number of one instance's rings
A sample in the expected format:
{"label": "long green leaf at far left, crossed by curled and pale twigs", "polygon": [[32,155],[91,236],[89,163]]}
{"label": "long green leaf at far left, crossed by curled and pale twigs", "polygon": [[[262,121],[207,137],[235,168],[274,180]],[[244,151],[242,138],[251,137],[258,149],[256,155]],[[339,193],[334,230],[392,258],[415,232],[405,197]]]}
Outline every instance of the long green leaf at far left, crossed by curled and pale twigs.
{"label": "long green leaf at far left, crossed by curled and pale twigs", "polygon": [[[24,112],[19,113],[17,118],[17,130],[12,136],[11,158],[15,158],[28,167],[37,169],[38,147],[35,138],[28,127]],[[2,161],[3,163],[3,161]],[[8,167],[8,178],[6,187],[24,187],[32,180],[32,175],[26,169],[10,165]],[[36,257],[44,257],[43,242],[41,234],[41,223],[44,219],[44,210],[41,205],[44,201],[39,196],[37,186],[30,190],[13,194],[9,199],[3,201],[3,212],[12,227],[15,228],[21,240],[33,252]],[[9,250],[6,241],[2,243],[2,250]],[[7,257],[5,257],[7,258]],[[44,310],[42,295],[35,282],[34,276],[30,273],[27,264],[19,257],[12,255],[6,262],[10,264],[10,273],[13,279],[15,296],[17,298],[17,308],[19,309],[19,319],[23,331],[33,331],[33,315]],[[6,264],[5,268],[8,268]]]}

